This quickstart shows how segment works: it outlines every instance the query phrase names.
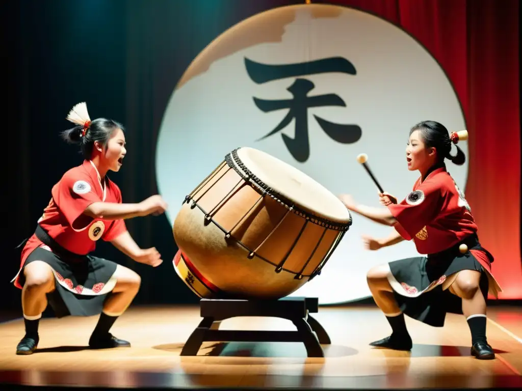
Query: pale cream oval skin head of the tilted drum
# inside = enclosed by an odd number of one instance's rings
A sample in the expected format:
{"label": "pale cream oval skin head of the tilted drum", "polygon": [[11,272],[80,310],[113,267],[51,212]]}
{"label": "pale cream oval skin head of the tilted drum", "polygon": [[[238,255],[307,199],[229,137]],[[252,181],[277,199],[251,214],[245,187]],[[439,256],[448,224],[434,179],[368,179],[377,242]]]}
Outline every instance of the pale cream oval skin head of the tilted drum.
{"label": "pale cream oval skin head of the tilted drum", "polygon": [[334,222],[348,223],[346,206],[323,185],[299,169],[254,148],[243,147],[238,157],[252,174],[295,206]]}

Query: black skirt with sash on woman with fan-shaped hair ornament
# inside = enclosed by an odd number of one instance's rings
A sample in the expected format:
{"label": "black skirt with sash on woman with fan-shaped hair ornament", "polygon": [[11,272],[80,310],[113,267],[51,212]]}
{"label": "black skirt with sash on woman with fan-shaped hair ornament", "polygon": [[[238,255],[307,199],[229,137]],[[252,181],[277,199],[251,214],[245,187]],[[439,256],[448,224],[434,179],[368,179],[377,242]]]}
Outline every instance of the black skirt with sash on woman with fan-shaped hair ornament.
{"label": "black skirt with sash on woman with fan-shaped hair ornament", "polygon": [[51,266],[55,277],[55,290],[48,294],[48,301],[56,317],[100,314],[116,284],[114,272],[118,264],[97,256],[71,253],[40,226],[35,233],[52,251],[38,247],[28,255],[19,272],[20,285],[25,284],[23,268],[31,262],[43,261]]}

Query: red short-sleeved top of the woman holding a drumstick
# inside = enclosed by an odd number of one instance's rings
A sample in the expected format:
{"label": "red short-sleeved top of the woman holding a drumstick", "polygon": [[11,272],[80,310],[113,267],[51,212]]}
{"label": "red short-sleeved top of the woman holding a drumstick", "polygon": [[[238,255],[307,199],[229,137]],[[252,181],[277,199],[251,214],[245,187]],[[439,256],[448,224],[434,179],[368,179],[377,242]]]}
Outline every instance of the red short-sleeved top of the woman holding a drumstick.
{"label": "red short-sleeved top of the woman holding a drumstick", "polygon": [[417,251],[432,254],[456,245],[477,232],[468,202],[446,168],[433,170],[399,204],[388,205],[397,219],[395,229],[413,239]]}

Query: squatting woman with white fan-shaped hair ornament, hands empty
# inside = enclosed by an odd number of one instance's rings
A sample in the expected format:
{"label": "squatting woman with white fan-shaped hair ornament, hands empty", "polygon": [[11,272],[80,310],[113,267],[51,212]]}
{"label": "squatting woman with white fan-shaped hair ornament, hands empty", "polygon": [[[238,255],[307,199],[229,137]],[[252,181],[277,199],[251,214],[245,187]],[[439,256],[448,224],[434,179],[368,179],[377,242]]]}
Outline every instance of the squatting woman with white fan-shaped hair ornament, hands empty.
{"label": "squatting woman with white fan-shaped hair ornament, hands empty", "polygon": [[136,296],[140,277],[90,253],[103,239],[136,262],[153,267],[162,262],[156,248],[136,244],[125,219],[163,213],[167,204],[158,195],[123,203],[120,188],[108,176],[120,170],[127,153],[123,126],[112,119],[91,120],[85,102],[75,105],[67,120],[75,126],[62,137],[79,145],[83,162],[53,186],[49,204],[21,251],[20,269],[11,281],[22,290],[26,332],[17,355],[37,348],[39,320],[48,302],[57,317],[100,315],[89,347],[130,346],[109,330]]}

